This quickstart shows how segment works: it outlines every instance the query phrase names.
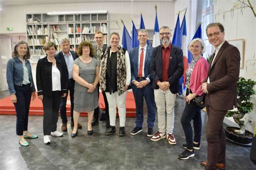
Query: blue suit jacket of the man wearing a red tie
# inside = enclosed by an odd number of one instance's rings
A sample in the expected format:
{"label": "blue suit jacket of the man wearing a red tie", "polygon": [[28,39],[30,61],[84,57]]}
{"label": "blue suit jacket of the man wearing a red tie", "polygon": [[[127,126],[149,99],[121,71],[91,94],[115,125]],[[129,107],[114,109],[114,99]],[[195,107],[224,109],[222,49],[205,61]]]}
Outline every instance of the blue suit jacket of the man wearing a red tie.
{"label": "blue suit jacket of the man wearing a red tie", "polygon": [[[153,47],[147,45],[146,58],[144,62],[144,76],[145,78],[149,77],[151,82],[152,82],[152,78],[150,76],[150,60],[151,60],[152,52],[153,52]],[[132,48],[129,51],[129,56],[130,56],[130,63],[131,63],[131,82],[132,82],[133,80],[136,80],[138,77],[139,47]]]}

